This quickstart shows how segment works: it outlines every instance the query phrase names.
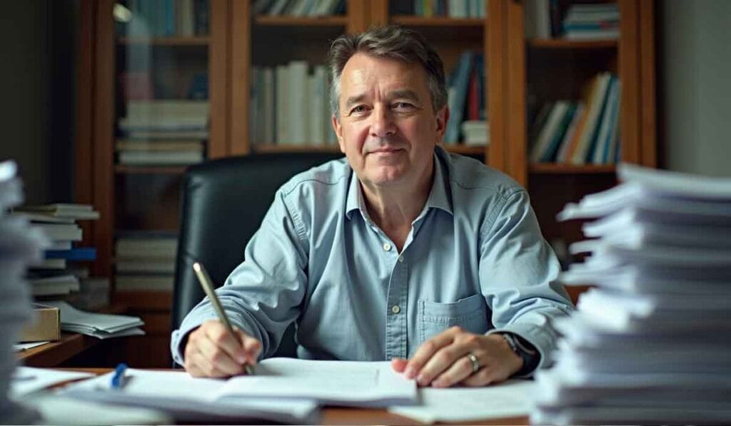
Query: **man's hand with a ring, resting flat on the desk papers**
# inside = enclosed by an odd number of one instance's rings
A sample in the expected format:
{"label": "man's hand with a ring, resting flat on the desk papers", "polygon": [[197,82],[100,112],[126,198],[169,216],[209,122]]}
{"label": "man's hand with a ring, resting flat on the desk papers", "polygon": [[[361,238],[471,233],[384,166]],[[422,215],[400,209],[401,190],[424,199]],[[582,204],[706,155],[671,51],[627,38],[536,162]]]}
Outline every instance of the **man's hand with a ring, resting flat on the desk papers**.
{"label": "man's hand with a ring, resting flat on the desk papers", "polygon": [[502,335],[480,335],[451,327],[425,341],[411,360],[395,358],[391,365],[406,378],[416,378],[420,386],[482,387],[506,380],[523,367],[523,360]]}

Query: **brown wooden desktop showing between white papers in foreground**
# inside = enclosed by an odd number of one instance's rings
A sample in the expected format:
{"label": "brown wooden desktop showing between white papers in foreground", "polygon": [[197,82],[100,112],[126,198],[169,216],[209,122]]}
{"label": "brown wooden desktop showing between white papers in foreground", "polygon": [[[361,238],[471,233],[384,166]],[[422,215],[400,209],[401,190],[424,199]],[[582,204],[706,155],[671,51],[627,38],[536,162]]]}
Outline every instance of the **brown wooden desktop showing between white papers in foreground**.
{"label": "brown wooden desktop showing between white papers in foreground", "polygon": [[[69,368],[68,370],[86,371],[101,375],[109,373],[112,368]],[[344,408],[325,407],[322,408],[323,425],[414,425],[417,424],[408,417],[391,414],[383,408]],[[461,422],[464,424],[465,422]],[[506,417],[502,419],[489,419],[479,422],[469,422],[470,425],[530,425],[529,418]]]}

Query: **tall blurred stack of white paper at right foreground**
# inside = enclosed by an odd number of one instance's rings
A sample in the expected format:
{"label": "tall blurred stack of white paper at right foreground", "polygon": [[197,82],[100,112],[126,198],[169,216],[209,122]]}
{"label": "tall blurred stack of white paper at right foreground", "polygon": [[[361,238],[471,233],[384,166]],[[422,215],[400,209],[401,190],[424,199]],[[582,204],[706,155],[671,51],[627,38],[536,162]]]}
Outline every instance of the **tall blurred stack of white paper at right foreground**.
{"label": "tall blurred stack of white paper at right foreground", "polygon": [[537,374],[534,423],[731,422],[731,179],[622,164],[621,185],[568,205],[594,284]]}

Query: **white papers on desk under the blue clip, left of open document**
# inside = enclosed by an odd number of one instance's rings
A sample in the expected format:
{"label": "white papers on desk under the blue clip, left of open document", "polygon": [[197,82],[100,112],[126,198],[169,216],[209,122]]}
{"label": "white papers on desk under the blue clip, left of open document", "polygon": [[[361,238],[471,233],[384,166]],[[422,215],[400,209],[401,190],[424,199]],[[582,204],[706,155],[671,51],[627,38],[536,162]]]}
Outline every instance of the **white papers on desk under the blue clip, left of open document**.
{"label": "white papers on desk under the blue clip, left of open document", "polygon": [[222,379],[194,378],[185,371],[126,370],[124,389],[110,389],[113,373],[64,389],[63,395],[103,403],[156,408],[184,422],[265,419],[275,422],[313,423],[317,403],[313,400],[264,398],[219,398]]}

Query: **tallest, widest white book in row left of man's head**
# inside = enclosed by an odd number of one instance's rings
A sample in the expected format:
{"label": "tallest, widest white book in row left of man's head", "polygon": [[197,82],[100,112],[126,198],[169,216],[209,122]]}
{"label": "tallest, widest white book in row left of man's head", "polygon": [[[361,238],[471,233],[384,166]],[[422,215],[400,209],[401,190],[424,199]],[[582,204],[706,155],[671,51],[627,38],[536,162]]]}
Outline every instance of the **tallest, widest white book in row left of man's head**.
{"label": "tallest, widest white book in row left of man's head", "polygon": [[305,145],[308,141],[308,77],[307,62],[292,61],[289,63],[287,82],[287,116],[289,118],[289,143]]}

